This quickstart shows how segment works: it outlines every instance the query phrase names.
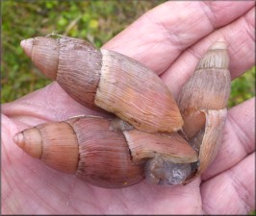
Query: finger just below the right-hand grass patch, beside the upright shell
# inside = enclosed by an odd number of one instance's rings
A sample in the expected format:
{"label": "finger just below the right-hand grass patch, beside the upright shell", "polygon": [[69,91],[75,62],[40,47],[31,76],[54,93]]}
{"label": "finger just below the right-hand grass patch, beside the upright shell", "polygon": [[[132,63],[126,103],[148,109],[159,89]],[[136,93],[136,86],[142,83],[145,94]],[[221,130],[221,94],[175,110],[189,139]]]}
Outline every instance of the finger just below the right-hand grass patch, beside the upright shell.
{"label": "finger just below the right-hand grass patch, beside the upright shell", "polygon": [[204,173],[209,180],[230,169],[255,151],[255,98],[229,109],[221,147],[215,161]]}

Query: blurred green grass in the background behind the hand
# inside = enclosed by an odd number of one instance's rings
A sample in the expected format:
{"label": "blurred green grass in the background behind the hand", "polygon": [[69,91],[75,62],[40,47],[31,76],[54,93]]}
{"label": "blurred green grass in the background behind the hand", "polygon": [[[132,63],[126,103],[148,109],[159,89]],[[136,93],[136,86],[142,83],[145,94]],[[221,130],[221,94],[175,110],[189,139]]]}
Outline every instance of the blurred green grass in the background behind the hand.
{"label": "blurred green grass in the background behind the hand", "polygon": [[[50,81],[19,46],[20,40],[50,33],[90,40],[97,47],[162,1],[2,1],[2,103]],[[232,83],[229,107],[255,95],[255,67]]]}

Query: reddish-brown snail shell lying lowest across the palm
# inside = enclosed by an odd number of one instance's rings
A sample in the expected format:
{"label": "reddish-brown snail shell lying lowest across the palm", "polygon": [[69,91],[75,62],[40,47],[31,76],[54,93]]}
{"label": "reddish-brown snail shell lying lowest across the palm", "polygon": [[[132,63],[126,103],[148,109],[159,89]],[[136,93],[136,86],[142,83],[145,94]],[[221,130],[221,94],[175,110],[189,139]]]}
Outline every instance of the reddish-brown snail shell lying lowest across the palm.
{"label": "reddish-brown snail shell lying lowest across the palm", "polygon": [[48,166],[109,188],[143,180],[146,161],[157,155],[174,164],[198,159],[178,133],[147,133],[130,127],[131,131],[122,130],[116,130],[116,120],[84,116],[38,125],[17,133],[13,140]]}

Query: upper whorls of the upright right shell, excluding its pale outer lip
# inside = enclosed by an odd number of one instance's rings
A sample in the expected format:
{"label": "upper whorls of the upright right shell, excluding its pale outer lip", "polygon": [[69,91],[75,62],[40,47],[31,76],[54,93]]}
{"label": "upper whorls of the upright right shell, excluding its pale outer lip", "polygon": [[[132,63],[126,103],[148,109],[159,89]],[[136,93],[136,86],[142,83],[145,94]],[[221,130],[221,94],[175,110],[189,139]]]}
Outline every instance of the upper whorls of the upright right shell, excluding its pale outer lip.
{"label": "upper whorls of the upright right shell, excluding its pale outer lip", "polygon": [[204,126],[204,110],[226,107],[231,87],[228,64],[226,43],[217,41],[199,60],[192,77],[182,87],[178,106],[185,122],[183,131],[188,138]]}

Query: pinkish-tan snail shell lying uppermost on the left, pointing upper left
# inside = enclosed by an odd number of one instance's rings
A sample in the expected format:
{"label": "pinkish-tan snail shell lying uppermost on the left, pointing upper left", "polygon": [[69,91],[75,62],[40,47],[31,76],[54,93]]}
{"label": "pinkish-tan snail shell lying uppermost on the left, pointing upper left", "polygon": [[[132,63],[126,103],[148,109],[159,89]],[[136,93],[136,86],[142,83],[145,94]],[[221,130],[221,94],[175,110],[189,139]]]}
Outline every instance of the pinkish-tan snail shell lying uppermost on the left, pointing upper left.
{"label": "pinkish-tan snail shell lying uppermost on the left, pointing upper left", "polygon": [[75,100],[146,132],[177,132],[183,120],[162,80],[140,62],[76,38],[38,36],[21,43],[47,77]]}

